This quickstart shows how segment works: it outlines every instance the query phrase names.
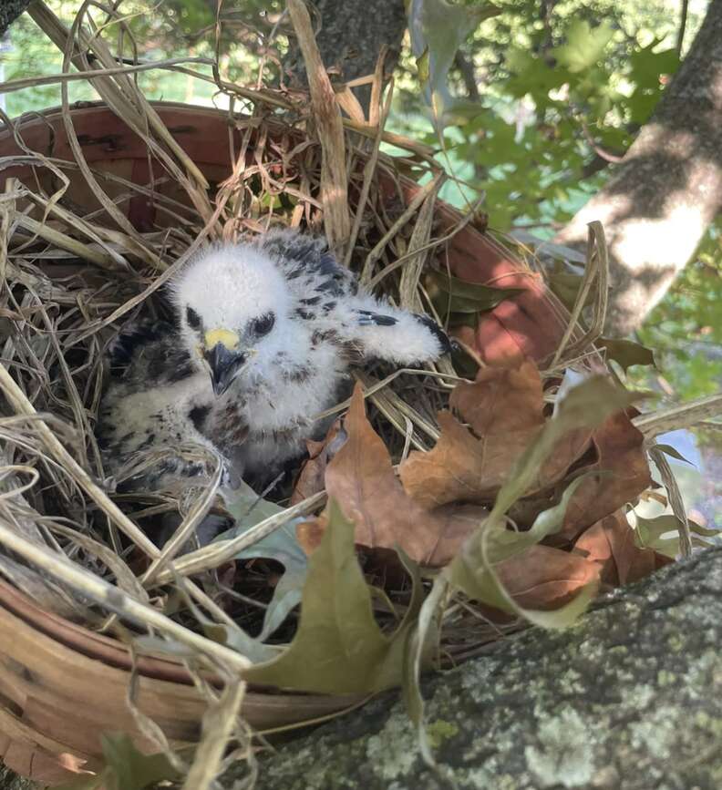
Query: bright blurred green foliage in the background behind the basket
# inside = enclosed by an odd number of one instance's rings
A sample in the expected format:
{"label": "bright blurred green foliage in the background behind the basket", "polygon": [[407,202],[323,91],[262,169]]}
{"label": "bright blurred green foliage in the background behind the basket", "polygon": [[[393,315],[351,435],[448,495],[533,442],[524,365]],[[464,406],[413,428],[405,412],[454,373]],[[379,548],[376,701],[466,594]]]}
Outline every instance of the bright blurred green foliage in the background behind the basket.
{"label": "bright blurred green foliage in the background behind the basket", "polygon": [[[80,3],[50,0],[49,5],[69,23]],[[213,56],[212,5],[208,0],[125,0],[121,8],[140,55],[161,59]],[[624,154],[679,63],[681,0],[500,0],[495,7],[479,0],[453,6],[447,0],[407,0],[407,6],[411,14],[426,6],[429,14],[449,19],[449,26],[433,28],[438,40],[429,37],[432,56],[449,36],[463,43],[459,56],[441,64],[442,115],[434,123],[419,84],[419,77],[428,77],[428,52],[415,57],[407,42],[389,126],[436,148],[443,126],[439,159],[458,181],[449,183],[442,197],[464,205],[483,190],[490,224],[499,231],[524,229],[551,238],[609,178],[614,169],[609,159]],[[278,79],[287,48],[284,20],[277,25],[283,7],[276,0],[223,4],[224,75],[246,84]],[[707,0],[690,3],[686,46],[706,7]],[[28,16],[12,26],[9,43],[10,51],[2,56],[5,79],[60,70],[60,53]],[[133,55],[129,39],[125,54]],[[433,78],[433,58],[430,65]],[[210,75],[210,69],[205,72]],[[185,75],[148,72],[138,79],[153,98],[224,106],[211,84]],[[83,82],[71,84],[69,93],[73,101],[95,98]],[[59,96],[57,86],[18,91],[5,97],[5,110],[18,116],[57,105]],[[717,223],[709,231],[696,261],[638,333],[640,342],[655,348],[659,370],[633,367],[634,384],[685,399],[718,388],[720,230]]]}

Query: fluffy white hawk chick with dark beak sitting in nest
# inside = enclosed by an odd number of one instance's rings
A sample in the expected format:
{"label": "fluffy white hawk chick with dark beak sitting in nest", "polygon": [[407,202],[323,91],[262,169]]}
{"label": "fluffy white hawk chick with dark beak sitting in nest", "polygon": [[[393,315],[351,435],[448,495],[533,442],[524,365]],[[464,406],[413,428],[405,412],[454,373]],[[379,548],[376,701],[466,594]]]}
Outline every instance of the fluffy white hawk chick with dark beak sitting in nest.
{"label": "fluffy white hawk chick with dark beak sitting in nest", "polygon": [[[263,485],[324,435],[327,422],[314,417],[347,394],[350,364],[419,364],[449,351],[431,319],[376,299],[325,240],[297,231],[212,246],[170,293],[177,325],[132,326],[111,350],[98,438],[112,474],[144,451],[173,456],[192,443],[222,457],[227,480]],[[132,487],[207,474],[176,455]]]}

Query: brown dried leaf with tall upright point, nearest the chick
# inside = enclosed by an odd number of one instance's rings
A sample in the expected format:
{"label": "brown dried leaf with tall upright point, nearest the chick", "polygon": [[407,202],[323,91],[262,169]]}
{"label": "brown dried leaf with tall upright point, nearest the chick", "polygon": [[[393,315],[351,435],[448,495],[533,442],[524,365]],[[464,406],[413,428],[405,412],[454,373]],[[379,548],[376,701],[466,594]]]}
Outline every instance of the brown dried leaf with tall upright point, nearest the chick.
{"label": "brown dried leaf with tall upright point, nearest the chick", "polygon": [[[421,565],[449,562],[485,518],[483,508],[449,506],[427,510],[410,498],[394,474],[386,445],[366,419],[356,386],[344,422],[348,438],[325,470],[325,488],[356,527],[356,544],[371,549],[400,546]],[[296,534],[307,551],[323,536],[327,514],[306,522]]]}

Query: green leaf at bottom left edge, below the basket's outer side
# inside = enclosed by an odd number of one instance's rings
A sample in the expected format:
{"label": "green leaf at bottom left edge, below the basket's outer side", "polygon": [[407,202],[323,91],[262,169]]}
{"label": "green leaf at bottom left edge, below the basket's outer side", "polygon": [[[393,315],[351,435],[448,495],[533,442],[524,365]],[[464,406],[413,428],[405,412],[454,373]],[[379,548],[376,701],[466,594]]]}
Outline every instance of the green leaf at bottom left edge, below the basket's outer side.
{"label": "green leaf at bottom left edge, below the basket's outer side", "polygon": [[165,754],[143,754],[125,733],[100,736],[106,767],[98,775],[59,785],[56,790],[143,790],[162,781],[173,781],[180,774]]}

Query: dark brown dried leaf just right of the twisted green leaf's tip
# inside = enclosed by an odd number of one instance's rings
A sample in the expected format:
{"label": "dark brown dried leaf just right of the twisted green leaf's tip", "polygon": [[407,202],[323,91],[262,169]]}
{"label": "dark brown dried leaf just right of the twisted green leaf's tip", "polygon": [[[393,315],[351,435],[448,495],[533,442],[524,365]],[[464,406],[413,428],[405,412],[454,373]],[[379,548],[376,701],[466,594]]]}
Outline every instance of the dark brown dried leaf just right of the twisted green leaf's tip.
{"label": "dark brown dried leaf just right of the twisted green leaf's tip", "polygon": [[564,517],[564,537],[576,538],[652,485],[644,440],[624,412],[608,417],[593,432],[596,461],[581,471],[599,469],[604,474],[590,475],[574,492]]}

